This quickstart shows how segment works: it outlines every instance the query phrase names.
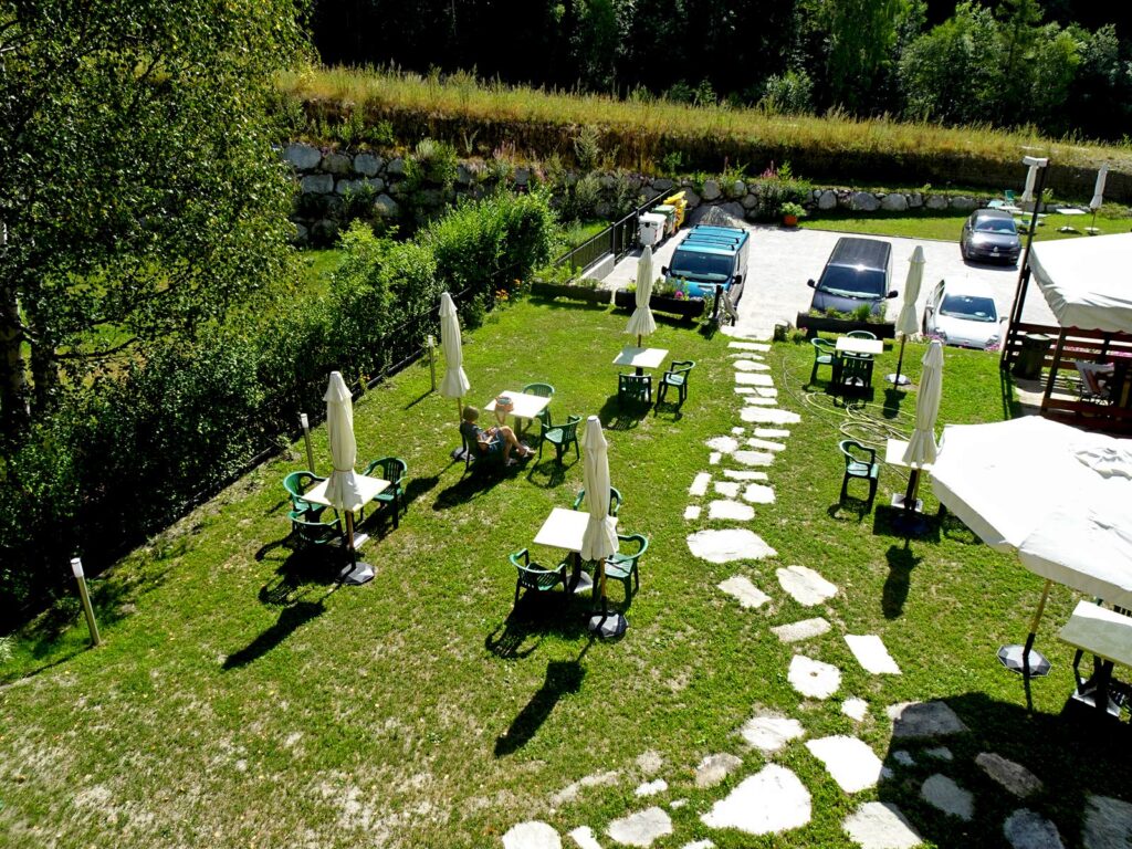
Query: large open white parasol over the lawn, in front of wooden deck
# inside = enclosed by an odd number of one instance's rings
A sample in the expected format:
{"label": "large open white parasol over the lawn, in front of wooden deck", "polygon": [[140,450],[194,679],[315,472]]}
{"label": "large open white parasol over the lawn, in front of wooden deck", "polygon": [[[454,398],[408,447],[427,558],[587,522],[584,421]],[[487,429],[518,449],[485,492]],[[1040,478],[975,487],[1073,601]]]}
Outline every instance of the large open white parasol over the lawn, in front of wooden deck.
{"label": "large open white parasol over the lawn, in front of wooden deck", "polygon": [[1046,580],[1132,608],[1132,440],[1031,415],[951,424],[932,489],[984,542]]}

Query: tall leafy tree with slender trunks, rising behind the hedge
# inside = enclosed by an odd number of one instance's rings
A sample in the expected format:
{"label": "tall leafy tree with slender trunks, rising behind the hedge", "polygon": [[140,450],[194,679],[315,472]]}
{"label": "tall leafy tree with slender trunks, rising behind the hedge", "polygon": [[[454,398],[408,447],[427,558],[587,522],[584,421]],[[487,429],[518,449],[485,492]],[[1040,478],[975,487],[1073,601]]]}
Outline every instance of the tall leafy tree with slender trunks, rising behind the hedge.
{"label": "tall leafy tree with slender trunks, rising behind the hedge", "polygon": [[0,420],[70,369],[192,333],[286,255],[271,149],[293,0],[0,3]]}

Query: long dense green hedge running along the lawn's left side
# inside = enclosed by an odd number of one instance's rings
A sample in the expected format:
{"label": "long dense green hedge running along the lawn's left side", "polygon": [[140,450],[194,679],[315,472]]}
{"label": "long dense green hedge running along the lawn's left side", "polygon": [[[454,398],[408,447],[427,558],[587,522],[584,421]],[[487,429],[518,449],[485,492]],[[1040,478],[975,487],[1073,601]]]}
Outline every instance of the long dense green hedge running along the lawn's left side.
{"label": "long dense green hedge running along the lawn's left side", "polygon": [[62,585],[75,554],[106,565],[277,449],[323,409],[329,371],[363,387],[414,357],[443,291],[479,324],[549,259],[554,232],[541,192],[463,203],[411,242],[355,223],[325,295],[154,345],[68,394],[0,457],[0,618]]}

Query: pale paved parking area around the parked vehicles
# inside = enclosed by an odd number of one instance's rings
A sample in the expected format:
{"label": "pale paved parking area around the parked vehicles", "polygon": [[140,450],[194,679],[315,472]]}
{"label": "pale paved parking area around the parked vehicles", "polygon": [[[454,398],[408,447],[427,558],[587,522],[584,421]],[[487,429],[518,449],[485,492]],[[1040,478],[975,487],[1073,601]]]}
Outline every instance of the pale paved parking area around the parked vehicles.
{"label": "pale paved parking area around the parked vehicles", "polygon": [[[816,280],[821,275],[834,242],[847,233],[795,230],[763,224],[748,224],[747,229],[752,231],[754,241],[751,246],[751,267],[743,300],[739,302],[739,321],[736,331],[755,338],[770,338],[775,323],[789,321],[792,325],[798,312],[809,309],[813,290],[806,285],[806,281]],[[654,254],[653,267],[658,275],[660,267],[668,265],[681,238],[668,239]],[[885,241],[892,243],[892,288],[900,292],[901,297],[912,249],[917,245],[924,248],[927,263],[924,266],[924,285],[916,302],[917,315],[924,315],[928,292],[936,282],[970,277],[983,280],[990,286],[1001,316],[1010,314],[1010,306],[1014,301],[1014,289],[1018,286],[1018,268],[964,263],[959,255],[958,232],[955,241],[949,242],[891,237],[886,237]],[[638,256],[640,251],[618,263],[604,285],[624,286],[635,277]],[[900,312],[900,298],[889,302],[890,318],[894,319]],[[1031,285],[1027,294],[1022,319],[1036,324],[1057,324],[1036,285]]]}

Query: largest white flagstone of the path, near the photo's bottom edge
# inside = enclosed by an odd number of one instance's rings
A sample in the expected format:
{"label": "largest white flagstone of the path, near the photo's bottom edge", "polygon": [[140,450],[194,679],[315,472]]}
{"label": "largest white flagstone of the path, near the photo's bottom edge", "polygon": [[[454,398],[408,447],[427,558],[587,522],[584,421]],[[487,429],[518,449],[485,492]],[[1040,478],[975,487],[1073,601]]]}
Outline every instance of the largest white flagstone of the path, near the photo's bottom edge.
{"label": "largest white flagstone of the path, near the photo's bottom edge", "polygon": [[767,764],[700,818],[712,829],[775,834],[809,822],[809,791],[790,770]]}

